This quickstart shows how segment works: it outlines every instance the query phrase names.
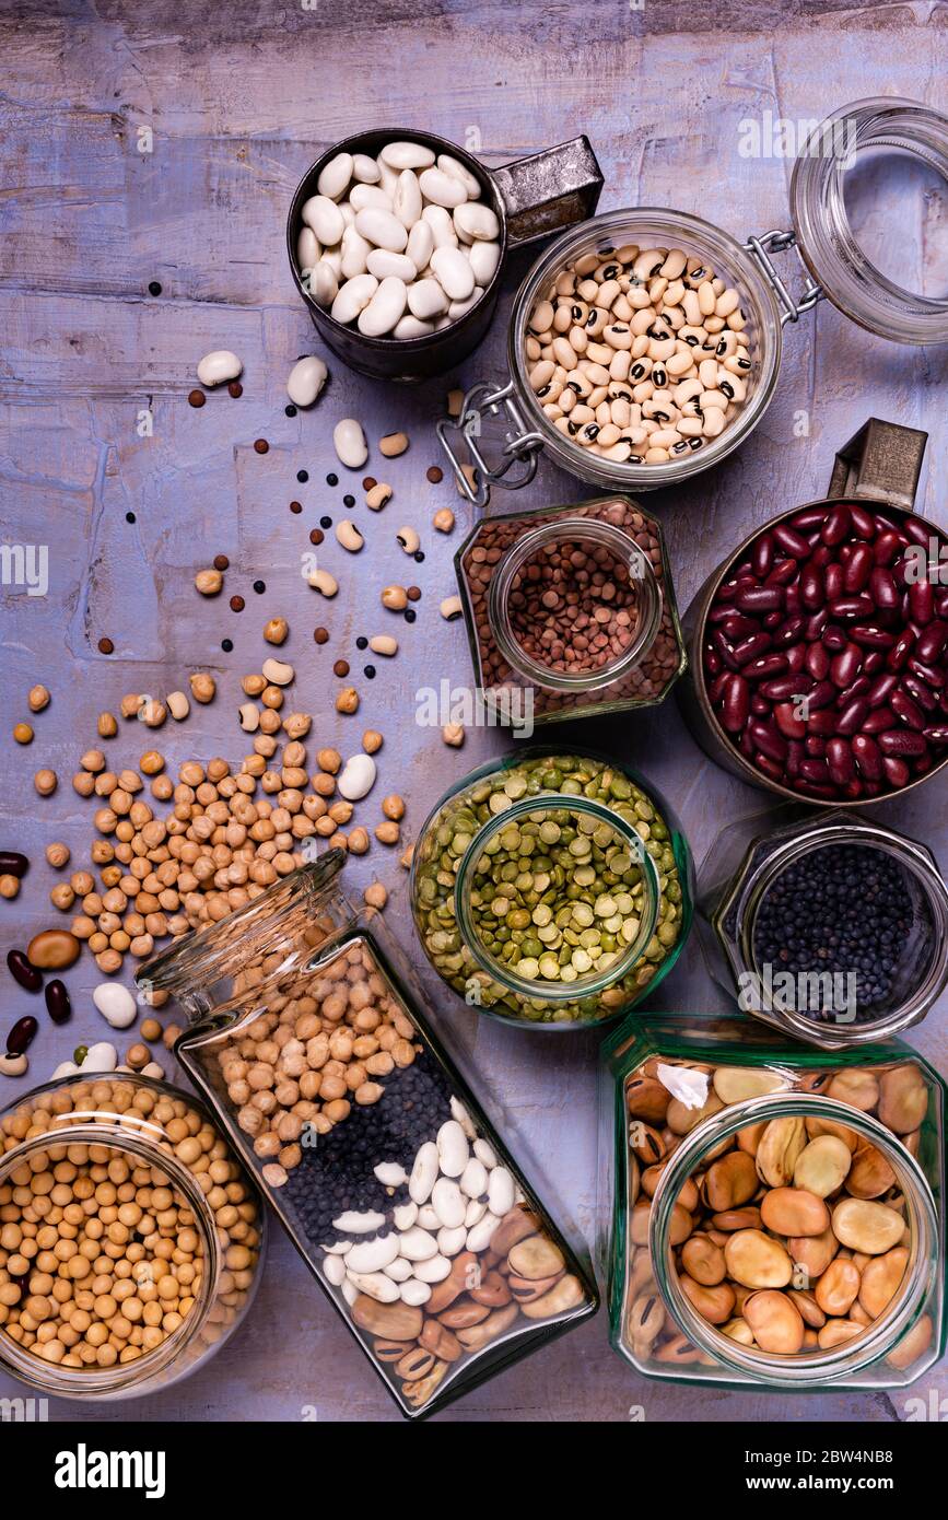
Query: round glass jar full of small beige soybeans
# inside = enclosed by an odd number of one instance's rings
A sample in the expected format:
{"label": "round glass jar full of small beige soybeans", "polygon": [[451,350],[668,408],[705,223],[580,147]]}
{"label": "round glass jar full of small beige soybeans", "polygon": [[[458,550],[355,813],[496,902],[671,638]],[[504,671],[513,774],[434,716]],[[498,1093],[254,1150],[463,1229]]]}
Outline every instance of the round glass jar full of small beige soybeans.
{"label": "round glass jar full of small beige soybeans", "polygon": [[260,1193],[191,1094],[123,1072],[0,1114],[0,1368],[88,1401],[156,1392],[237,1330]]}

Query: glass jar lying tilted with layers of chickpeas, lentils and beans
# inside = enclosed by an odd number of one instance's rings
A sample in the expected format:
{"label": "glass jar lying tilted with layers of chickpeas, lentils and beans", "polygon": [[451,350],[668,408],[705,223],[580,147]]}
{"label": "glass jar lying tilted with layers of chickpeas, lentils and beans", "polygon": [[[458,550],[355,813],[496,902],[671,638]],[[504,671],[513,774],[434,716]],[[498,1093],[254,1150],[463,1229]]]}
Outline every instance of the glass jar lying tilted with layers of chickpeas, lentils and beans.
{"label": "glass jar lying tilted with layers of chickpeas, lentils and beans", "polygon": [[434,1037],[333,850],[138,973],[191,1024],[175,1055],[409,1417],[597,1307],[567,1242]]}

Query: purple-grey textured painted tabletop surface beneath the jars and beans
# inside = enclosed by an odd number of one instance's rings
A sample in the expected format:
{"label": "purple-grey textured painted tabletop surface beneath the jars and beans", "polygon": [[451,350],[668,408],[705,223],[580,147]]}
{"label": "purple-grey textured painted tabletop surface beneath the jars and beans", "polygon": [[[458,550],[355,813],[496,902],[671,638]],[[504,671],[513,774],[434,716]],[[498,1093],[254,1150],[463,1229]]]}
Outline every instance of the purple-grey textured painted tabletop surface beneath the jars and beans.
{"label": "purple-grey textured painted tabletop surface beneath the jars and beans", "polygon": [[[283,613],[298,669],[298,704],[318,714],[321,742],[352,743],[352,731],[384,731],[380,786],[409,800],[413,836],[436,795],[501,748],[474,734],[444,749],[413,724],[421,684],[468,678],[463,628],[438,617],[453,590],[450,556],[469,521],[453,486],[425,482],[436,461],[433,421],[445,385],[418,391],[363,382],[330,359],[319,407],[283,415],[292,360],[313,348],[284,252],[286,210],[298,178],[325,146],[363,126],[430,128],[480,143],[504,163],[586,132],[606,178],[602,210],[673,205],[697,211],[737,236],[787,226],[790,163],[738,154],[740,122],[764,112],[793,120],[871,94],[905,94],[945,108],[948,6],[830,3],[659,3],[621,0],[321,0],[299,5],[193,0],[33,3],[0,17],[0,489],[3,541],[47,543],[52,584],[44,600],[0,588],[3,733],[0,842],[35,859],[17,903],[0,907],[0,950],[46,924],[52,872],[43,845],[62,838],[76,863],[87,857],[91,809],[68,778],[94,739],[94,717],[123,692],[169,690],[188,670],[217,673],[219,698],[185,727],[153,736],[169,760],[245,752],[234,708],[239,681],[260,660],[260,628]],[[137,150],[138,128],[153,152]],[[948,205],[943,187],[904,169],[860,173],[858,225],[867,246],[905,283],[948,284]],[[529,258],[512,261],[504,304],[488,344],[450,380],[503,374],[506,310]],[[147,295],[160,280],[160,299]],[[196,360],[210,348],[237,350],[245,395],[216,395],[191,410],[184,397]],[[316,345],[319,350],[319,345]],[[902,350],[857,330],[828,304],[785,334],[776,398],[743,450],[687,489],[655,497],[665,523],[682,608],[720,555],[776,509],[819,497],[834,450],[871,413],[928,429],[931,442],[921,506],[945,521],[945,350]],[[940,403],[940,406],[939,406]],[[150,407],[155,433],[135,432]],[[795,433],[805,412],[810,436]],[[334,465],[330,433],[340,416],[365,420],[371,439],[404,427],[410,451],[384,471],[395,502],[368,521],[356,564],[331,544],[342,572],[337,602],[299,579],[305,534],[340,492],[324,474]],[[252,441],[266,435],[270,453]],[[311,482],[296,486],[307,467]],[[302,517],[289,500],[299,494]],[[570,502],[586,488],[542,465],[521,500]],[[453,541],[430,530],[436,506],[459,511]],[[497,509],[510,508],[500,497]],[[126,511],[137,523],[129,526]],[[357,508],[356,515],[365,514]],[[357,719],[333,710],[331,660],[354,635],[377,631],[366,613],[377,590],[404,572],[395,527],[413,521],[427,561],[421,616],[404,629],[400,658],[369,689],[360,681]],[[225,552],[228,593],[248,596],[235,617],[191,588],[194,570]],[[345,564],[343,564],[345,561]],[[267,594],[249,582],[264,575]],[[318,651],[314,623],[333,628]],[[235,640],[231,657],[220,638]],[[115,654],[97,654],[109,635]],[[356,667],[359,669],[359,667]],[[50,708],[36,720],[29,752],[14,746],[29,686],[46,681]],[[760,793],[716,771],[685,734],[673,704],[641,717],[589,722],[573,742],[611,748],[653,778],[673,801],[700,859],[726,818],[755,812]],[[115,768],[147,748],[125,727],[109,746]],[[38,803],[40,765],[61,775],[56,796]],[[383,792],[378,792],[383,795]],[[901,807],[892,822],[945,845],[943,781]],[[371,822],[375,821],[372,810]],[[390,920],[416,961],[407,932],[404,876],[381,847],[348,868],[354,889],[371,874],[393,888]],[[419,968],[421,970],[421,968]],[[422,970],[438,1024],[476,1062],[530,1148],[542,1154],[567,1205],[591,1234],[597,1214],[596,1038],[542,1038],[472,1017]],[[33,1046],[41,1079],[79,1038],[103,1034],[87,994],[96,982],[82,962],[68,976],[76,1015]],[[3,1018],[24,999],[3,982]],[[697,941],[661,990],[661,1005],[713,1012],[725,1006],[709,983]],[[943,1008],[915,1043],[948,1072]],[[26,1085],[20,1084],[21,1087]],[[3,1099],[11,1093],[5,1087]],[[925,1380],[948,1388],[945,1368]],[[0,1392],[15,1389],[0,1379]],[[276,1239],[266,1284],[239,1338],[202,1373],[164,1397],[114,1406],[138,1420],[296,1420],[313,1404],[321,1420],[398,1418],[342,1324],[322,1301],[286,1240]],[[905,1395],[884,1392],[767,1395],[637,1380],[606,1345],[605,1316],[479,1389],[448,1420],[867,1420],[905,1415]],[[56,1404],[56,1418],[82,1418]],[[108,1415],[106,1415],[108,1418]]]}

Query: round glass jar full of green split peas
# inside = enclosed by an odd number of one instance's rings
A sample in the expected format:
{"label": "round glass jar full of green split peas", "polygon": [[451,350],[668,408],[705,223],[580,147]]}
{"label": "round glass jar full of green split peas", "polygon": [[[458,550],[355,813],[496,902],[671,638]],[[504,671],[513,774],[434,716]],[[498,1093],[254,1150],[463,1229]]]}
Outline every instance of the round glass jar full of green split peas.
{"label": "round glass jar full of green split peas", "polygon": [[438,803],[410,892],[422,948],[465,1002],[530,1028],[588,1028],[675,965],[691,927],[691,853],[635,772],[526,749]]}

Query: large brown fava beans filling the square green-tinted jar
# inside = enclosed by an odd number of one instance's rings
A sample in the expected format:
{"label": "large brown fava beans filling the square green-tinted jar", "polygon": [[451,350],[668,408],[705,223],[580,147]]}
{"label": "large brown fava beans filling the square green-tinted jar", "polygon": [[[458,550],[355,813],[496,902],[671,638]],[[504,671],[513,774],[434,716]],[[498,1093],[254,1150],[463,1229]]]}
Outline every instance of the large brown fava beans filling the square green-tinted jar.
{"label": "large brown fava beans filling the square green-tinted jar", "polygon": [[[716,1114],[766,1094],[819,1094],[874,1116],[887,1154],[828,1114],[750,1122],[697,1160],[670,1214],[673,1274],[696,1322],[761,1354],[787,1359],[858,1351],[898,1307],[912,1266],[912,1211],[898,1157],[940,1173],[933,1088],[921,1067],[705,1066],[649,1058],[624,1084],[629,1143],[627,1281],[623,1342],[646,1371],[719,1366],[702,1328],[682,1335],[655,1278],[652,1198],[678,1148]],[[934,1148],[934,1149],[933,1149]],[[928,1313],[887,1348],[905,1371],[933,1339]],[[702,1344],[703,1342],[703,1344]],[[714,1344],[714,1341],[711,1342]],[[717,1345],[725,1342],[717,1342]]]}

